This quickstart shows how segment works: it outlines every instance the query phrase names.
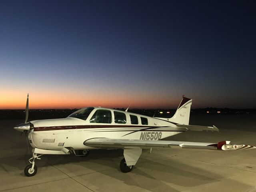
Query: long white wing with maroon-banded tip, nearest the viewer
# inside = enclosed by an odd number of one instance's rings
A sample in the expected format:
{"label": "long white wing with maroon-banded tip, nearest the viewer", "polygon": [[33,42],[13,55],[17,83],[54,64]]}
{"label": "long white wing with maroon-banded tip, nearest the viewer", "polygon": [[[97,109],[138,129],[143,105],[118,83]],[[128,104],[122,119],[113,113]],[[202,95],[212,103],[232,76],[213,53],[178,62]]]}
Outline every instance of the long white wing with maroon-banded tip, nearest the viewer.
{"label": "long white wing with maroon-banded tip, nearest the viewer", "polygon": [[178,147],[190,149],[209,149],[209,150],[243,150],[256,148],[249,145],[230,144],[230,141],[218,143],[203,142],[184,142],[184,141],[163,141],[163,140],[134,140],[134,139],[111,139],[111,138],[92,138],[84,142],[84,145],[96,148],[162,148]]}

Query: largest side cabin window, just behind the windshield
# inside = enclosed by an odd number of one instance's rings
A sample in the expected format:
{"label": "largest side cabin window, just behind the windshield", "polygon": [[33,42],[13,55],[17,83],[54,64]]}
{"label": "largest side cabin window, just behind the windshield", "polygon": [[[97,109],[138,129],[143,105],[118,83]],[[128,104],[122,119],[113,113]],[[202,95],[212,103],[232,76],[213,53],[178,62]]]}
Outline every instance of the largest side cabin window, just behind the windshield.
{"label": "largest side cabin window, just behind the windshield", "polygon": [[90,123],[111,123],[112,115],[110,110],[98,109],[90,119]]}

